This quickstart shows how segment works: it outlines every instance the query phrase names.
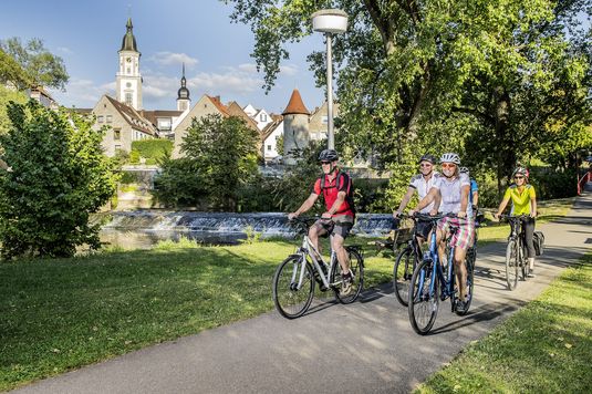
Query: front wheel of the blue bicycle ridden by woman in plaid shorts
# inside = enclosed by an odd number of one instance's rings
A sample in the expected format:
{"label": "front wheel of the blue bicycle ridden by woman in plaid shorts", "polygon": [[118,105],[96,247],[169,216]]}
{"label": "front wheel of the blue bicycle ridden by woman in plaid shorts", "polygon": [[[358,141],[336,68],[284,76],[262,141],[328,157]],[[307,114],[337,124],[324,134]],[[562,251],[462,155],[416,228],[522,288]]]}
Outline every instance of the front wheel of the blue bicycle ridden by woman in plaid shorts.
{"label": "front wheel of the blue bicycle ridden by woman in plaid shorts", "polygon": [[[438,276],[433,274],[430,260],[424,260],[413,272],[409,286],[409,322],[413,330],[425,335],[432,330],[438,314],[439,287]],[[433,287],[434,291],[429,291]]]}

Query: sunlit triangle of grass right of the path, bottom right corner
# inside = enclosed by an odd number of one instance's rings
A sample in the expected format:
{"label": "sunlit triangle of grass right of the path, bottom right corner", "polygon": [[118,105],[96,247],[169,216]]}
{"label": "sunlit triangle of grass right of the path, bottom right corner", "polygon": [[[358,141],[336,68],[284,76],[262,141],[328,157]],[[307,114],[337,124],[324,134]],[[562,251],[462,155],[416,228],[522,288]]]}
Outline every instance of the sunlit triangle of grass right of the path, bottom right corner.
{"label": "sunlit triangle of grass right of the path, bottom right corner", "polygon": [[592,253],[470,344],[419,393],[591,393]]}

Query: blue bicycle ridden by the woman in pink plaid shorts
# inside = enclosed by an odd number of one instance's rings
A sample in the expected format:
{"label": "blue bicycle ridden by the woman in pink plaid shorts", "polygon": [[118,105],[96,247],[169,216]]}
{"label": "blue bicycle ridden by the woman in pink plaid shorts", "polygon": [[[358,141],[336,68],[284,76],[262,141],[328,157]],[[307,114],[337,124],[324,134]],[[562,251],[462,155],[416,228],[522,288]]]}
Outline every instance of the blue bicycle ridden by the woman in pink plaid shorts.
{"label": "blue bicycle ridden by the woman in pink plaid shorts", "polygon": [[438,246],[436,243],[436,224],[444,217],[456,217],[456,215],[429,216],[432,224],[432,235],[429,239],[429,250],[424,255],[422,262],[413,272],[409,283],[409,321],[415,332],[420,335],[427,334],[436,321],[439,301],[450,299],[450,309],[458,315],[467,314],[472,301],[474,292],[474,261],[465,260],[467,267],[467,298],[465,308],[457,308],[457,289],[455,287],[454,256],[456,247],[450,245],[453,235],[459,228],[450,226],[448,238],[446,239],[447,258],[444,263],[439,261]]}

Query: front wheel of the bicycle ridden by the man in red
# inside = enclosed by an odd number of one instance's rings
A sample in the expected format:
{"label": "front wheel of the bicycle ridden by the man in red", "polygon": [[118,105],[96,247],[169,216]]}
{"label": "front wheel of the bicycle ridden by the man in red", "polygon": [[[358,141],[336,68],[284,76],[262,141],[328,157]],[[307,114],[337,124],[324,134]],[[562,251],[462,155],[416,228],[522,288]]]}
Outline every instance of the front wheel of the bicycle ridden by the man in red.
{"label": "front wheel of the bicycle ridden by the man in red", "polygon": [[[298,289],[300,274],[305,270],[302,286]],[[273,303],[280,314],[295,319],[304,314],[314,296],[312,267],[302,256],[290,256],[278,267],[273,276]]]}

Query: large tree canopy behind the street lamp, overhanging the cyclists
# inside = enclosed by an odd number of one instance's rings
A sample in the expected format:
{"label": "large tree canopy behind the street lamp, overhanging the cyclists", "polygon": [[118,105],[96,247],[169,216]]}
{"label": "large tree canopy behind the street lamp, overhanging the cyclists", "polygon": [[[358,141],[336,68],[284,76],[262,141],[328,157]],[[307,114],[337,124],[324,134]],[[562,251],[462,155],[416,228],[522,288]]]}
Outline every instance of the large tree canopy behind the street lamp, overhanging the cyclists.
{"label": "large tree canopy behind the street lamp, overhanging the cyclists", "polygon": [[[590,33],[575,28],[584,0],[225,2],[235,21],[251,25],[267,89],[287,43],[312,33],[312,12],[347,12],[349,30],[333,48],[341,141],[380,169],[398,173],[424,152],[456,151],[482,168],[492,164],[501,179],[522,152],[538,153],[533,136],[550,138],[551,125],[571,135],[589,120]],[[323,85],[324,53],[309,61]],[[534,97],[577,100],[539,111]]]}

